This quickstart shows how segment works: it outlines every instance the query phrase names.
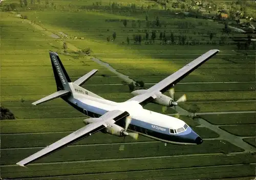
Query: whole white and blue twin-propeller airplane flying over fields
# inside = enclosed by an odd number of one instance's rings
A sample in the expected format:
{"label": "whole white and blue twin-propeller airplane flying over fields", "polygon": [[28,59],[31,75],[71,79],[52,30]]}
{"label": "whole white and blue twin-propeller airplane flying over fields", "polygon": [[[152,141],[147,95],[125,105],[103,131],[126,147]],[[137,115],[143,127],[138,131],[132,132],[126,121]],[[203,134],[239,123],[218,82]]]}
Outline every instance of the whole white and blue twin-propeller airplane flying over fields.
{"label": "whole white and blue twin-propeller airplane flying over fields", "polygon": [[58,54],[50,52],[57,91],[33,102],[32,105],[39,105],[60,97],[89,118],[83,120],[86,125],[79,130],[16,164],[25,167],[31,162],[48,156],[50,153],[99,131],[118,137],[131,136],[135,139],[140,134],[164,143],[201,144],[203,142],[202,138],[184,121],[143,109],[143,106],[150,102],[167,107],[177,106],[177,101],[163,93],[175,86],[219,51],[218,49],[209,50],[151,88],[133,91],[134,97],[124,102],[104,99],[81,87],[98,71],[97,69],[72,82]]}

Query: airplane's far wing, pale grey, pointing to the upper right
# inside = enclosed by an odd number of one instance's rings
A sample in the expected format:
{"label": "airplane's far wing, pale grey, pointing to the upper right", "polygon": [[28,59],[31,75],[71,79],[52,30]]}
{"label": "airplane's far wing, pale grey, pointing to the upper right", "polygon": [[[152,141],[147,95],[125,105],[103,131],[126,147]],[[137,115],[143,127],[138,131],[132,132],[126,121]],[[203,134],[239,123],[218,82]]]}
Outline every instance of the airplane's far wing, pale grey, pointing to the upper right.
{"label": "airplane's far wing, pale grey, pointing to the upper right", "polygon": [[152,101],[156,98],[156,95],[154,93],[161,92],[164,93],[170,88],[172,88],[174,85],[176,85],[178,82],[180,82],[182,79],[184,79],[189,73],[197,69],[199,66],[201,66],[203,63],[205,63],[207,60],[209,60],[211,57],[215,56],[220,50],[218,49],[212,49],[200,56],[199,58],[195,59],[194,61],[188,63],[183,68],[179,69],[172,75],[169,75],[164,80],[160,81],[156,85],[152,86],[151,88],[146,90],[146,93],[139,94],[137,96],[132,97],[130,100],[138,101],[140,105],[144,106],[148,102]]}

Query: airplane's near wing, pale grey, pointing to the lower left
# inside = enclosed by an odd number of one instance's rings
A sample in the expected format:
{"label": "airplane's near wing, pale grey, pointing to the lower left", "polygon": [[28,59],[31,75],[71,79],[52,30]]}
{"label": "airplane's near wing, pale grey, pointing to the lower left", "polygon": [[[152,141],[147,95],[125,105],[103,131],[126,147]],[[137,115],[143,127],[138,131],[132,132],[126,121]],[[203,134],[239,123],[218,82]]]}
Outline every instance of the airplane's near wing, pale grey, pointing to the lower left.
{"label": "airplane's near wing, pale grey, pointing to the lower left", "polygon": [[102,130],[103,128],[107,127],[108,125],[111,125],[126,116],[129,116],[129,113],[127,113],[126,111],[123,112],[123,111],[119,111],[119,110],[114,110],[114,111],[106,112],[99,118],[92,118],[94,120],[93,123],[90,123],[90,124],[80,128],[79,130],[56,141],[55,143],[45,147],[44,149],[34,153],[30,157],[28,157],[22,161],[19,161],[16,164],[19,166],[25,167],[27,164],[29,164],[35,160],[38,160],[42,157],[50,155],[50,153],[52,153],[52,152],[55,152],[63,147],[73,144],[74,142],[79,141],[82,138],[91,136],[92,134]]}

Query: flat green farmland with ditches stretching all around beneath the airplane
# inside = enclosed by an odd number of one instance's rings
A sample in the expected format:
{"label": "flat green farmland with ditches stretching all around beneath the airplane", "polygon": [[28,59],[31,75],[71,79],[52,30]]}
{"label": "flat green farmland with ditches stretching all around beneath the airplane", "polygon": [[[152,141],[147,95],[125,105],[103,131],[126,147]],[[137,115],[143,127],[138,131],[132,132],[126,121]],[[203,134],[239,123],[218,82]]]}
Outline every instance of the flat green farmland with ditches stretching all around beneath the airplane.
{"label": "flat green farmland with ditches stretching all around beneath the airplane", "polygon": [[[155,4],[152,1],[123,0],[124,5],[141,5],[142,2]],[[69,5],[67,1],[54,1],[54,4],[59,7]],[[92,5],[92,2],[74,1],[74,5]],[[108,6],[109,1],[102,1],[102,5]],[[156,5],[148,12],[148,18],[155,20],[154,13],[158,10],[162,11],[159,5]],[[197,104],[200,113],[217,112],[202,114],[200,117],[231,134],[255,136],[254,113],[218,114],[222,111],[255,110],[255,101],[246,101],[255,100],[253,53],[251,56],[245,56],[231,44],[160,44],[160,31],[166,31],[166,35],[173,32],[176,39],[182,32],[200,41],[208,41],[206,31],[213,31],[217,33],[213,41],[219,41],[223,24],[196,18],[172,16],[170,19],[159,13],[160,20],[168,21],[171,25],[166,28],[146,28],[146,22],[142,21],[141,28],[138,25],[134,28],[132,20],[144,20],[144,14],[131,13],[130,16],[124,16],[75,10],[63,13],[61,10],[51,9],[20,13],[26,14],[28,19],[17,18],[10,12],[1,12],[1,105],[10,109],[17,118],[1,120],[2,178],[237,179],[255,175],[255,157],[252,153],[243,152],[246,149],[233,145],[228,140],[215,139],[221,136],[207,127],[200,126],[195,119],[182,115],[180,119],[204,139],[201,145],[164,146],[162,142],[143,136],[134,140],[130,137],[123,139],[96,133],[29,164],[29,169],[15,165],[84,125],[82,120],[86,117],[61,99],[39,106],[31,105],[35,100],[56,91],[49,50],[59,54],[73,81],[92,69],[99,69],[83,87],[106,99],[121,102],[132,97],[129,87],[122,85],[122,79],[93,62],[91,57],[109,63],[133,80],[157,83],[207,50],[218,48],[221,52],[217,56],[175,86],[175,97],[178,98],[184,93],[187,95],[187,102],[179,104],[185,110],[188,110],[190,105]],[[118,20],[106,21],[109,19]],[[127,27],[124,27],[119,19],[129,20]],[[196,25],[196,28],[179,29],[178,25],[175,25],[186,21]],[[158,31],[155,44],[135,44],[134,34],[141,34],[144,38],[145,32],[139,29]],[[69,37],[84,39],[64,38],[68,48],[67,53],[63,53],[63,40],[53,38],[53,34],[59,35],[59,32]],[[116,32],[117,37],[108,42],[106,38],[112,37],[113,32]],[[130,37],[130,44],[126,43],[127,36]],[[91,57],[74,52],[75,49],[87,47],[93,51]],[[182,84],[189,82],[195,84]],[[202,82],[207,84],[196,84]],[[150,86],[152,84],[145,84],[145,87]],[[159,105],[148,104],[144,108],[162,113],[162,107]],[[165,112],[173,113],[176,111],[171,108]],[[243,140],[255,146],[255,139],[245,137]],[[120,145],[125,145],[124,150],[119,150]]]}

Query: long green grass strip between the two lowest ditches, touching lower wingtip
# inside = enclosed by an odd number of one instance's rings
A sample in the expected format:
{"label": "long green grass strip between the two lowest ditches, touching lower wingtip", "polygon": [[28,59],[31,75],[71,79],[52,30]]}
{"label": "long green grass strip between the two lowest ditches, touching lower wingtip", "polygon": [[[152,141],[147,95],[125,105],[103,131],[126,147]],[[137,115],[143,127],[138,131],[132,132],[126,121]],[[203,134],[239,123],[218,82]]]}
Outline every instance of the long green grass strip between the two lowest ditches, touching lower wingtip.
{"label": "long green grass strip between the two lowest ditches, touching lower wingtip", "polygon": [[[183,167],[187,170],[190,167],[200,166],[221,166],[240,163],[243,159],[244,164],[253,163],[252,155],[196,155],[196,156],[172,156],[165,158],[147,158],[147,159],[126,159],[126,160],[105,160],[105,161],[88,161],[88,162],[70,162],[70,163],[46,163],[28,165],[29,169],[18,168],[15,166],[5,166],[2,168],[2,174],[6,177],[29,177],[29,176],[55,176],[70,174],[90,174],[90,173],[110,173],[115,171],[148,171],[153,169],[170,169]],[[126,166],[122,166],[126,164]],[[148,166],[151,164],[153,166]],[[65,171],[72,166],[68,172]],[[87,167],[87,168],[81,168]],[[249,167],[249,166],[247,166]],[[187,168],[187,169],[186,169]],[[236,168],[236,166],[233,166]],[[68,168],[69,169],[69,168]],[[198,168],[200,169],[200,168]],[[141,173],[143,173],[143,171]],[[14,172],[14,173],[9,173]],[[24,175],[26,174],[26,175]],[[238,176],[240,174],[237,174]],[[86,177],[86,176],[85,176]],[[114,177],[114,176],[113,176]],[[185,177],[185,176],[184,176]],[[94,177],[92,177],[94,178]]]}

